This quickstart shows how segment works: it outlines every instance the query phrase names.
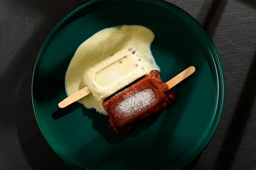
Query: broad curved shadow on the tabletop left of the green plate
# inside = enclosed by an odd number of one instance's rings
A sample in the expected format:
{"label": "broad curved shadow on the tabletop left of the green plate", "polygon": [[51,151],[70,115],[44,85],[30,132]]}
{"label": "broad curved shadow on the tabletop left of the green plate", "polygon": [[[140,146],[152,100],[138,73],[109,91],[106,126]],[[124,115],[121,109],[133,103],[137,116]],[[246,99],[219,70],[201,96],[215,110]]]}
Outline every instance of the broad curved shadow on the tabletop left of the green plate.
{"label": "broad curved shadow on the tabletop left of the green plate", "polygon": [[[38,29],[27,37],[23,47],[8,63],[6,71],[0,75],[0,88],[3,92],[0,100],[8,101],[14,93],[17,93],[17,98],[12,98],[12,102],[7,102],[3,107],[1,105],[1,110],[3,109],[6,121],[15,117],[20,147],[32,170],[70,170],[49,147],[38,127],[32,107],[31,82],[37,55],[50,31],[67,14],[83,3],[86,1],[63,0],[59,3],[57,0],[40,0],[32,3],[30,0],[19,0],[15,2],[15,5],[25,6],[29,11],[35,9],[38,13],[46,15],[46,19],[35,27]],[[9,114],[9,108],[13,109],[14,115]]]}

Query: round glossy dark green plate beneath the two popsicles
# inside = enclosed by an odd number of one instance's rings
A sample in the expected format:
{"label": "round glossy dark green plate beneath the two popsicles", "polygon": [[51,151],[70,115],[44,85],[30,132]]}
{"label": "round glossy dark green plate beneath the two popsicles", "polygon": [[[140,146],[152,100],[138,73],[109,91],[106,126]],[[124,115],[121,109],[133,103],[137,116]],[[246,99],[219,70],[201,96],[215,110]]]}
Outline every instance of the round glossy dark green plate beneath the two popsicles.
{"label": "round glossy dark green plate beneath the two popsicles", "polygon": [[[128,136],[108,128],[105,116],[78,103],[65,109],[67,67],[79,45],[96,32],[119,25],[150,28],[152,54],[166,82],[190,65],[195,73],[176,87],[177,103],[154,114]],[[164,0],[93,0],[71,12],[45,41],[32,82],[41,131],[73,169],[181,169],[212,139],[224,105],[224,73],[212,40],[200,24]]]}

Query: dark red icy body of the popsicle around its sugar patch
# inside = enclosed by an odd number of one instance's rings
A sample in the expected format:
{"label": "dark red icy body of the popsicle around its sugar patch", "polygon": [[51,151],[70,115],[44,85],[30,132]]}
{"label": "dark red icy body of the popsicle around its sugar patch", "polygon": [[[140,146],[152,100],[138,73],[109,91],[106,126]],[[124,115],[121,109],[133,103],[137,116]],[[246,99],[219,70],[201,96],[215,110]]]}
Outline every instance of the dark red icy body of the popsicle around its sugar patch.
{"label": "dark red icy body of the popsicle around its sugar patch", "polygon": [[[120,113],[116,109],[125,99],[146,89],[152,89],[154,91],[154,102],[145,109],[132,115]],[[109,125],[111,129],[119,134],[127,134],[131,131],[134,122],[140,122],[140,120],[145,119],[152,113],[163,110],[166,105],[171,105],[176,99],[176,92],[173,90],[168,91],[168,87],[162,82],[159,72],[153,70],[134,85],[131,85],[129,88],[109,99],[105,99],[102,102],[102,106],[110,118]]]}

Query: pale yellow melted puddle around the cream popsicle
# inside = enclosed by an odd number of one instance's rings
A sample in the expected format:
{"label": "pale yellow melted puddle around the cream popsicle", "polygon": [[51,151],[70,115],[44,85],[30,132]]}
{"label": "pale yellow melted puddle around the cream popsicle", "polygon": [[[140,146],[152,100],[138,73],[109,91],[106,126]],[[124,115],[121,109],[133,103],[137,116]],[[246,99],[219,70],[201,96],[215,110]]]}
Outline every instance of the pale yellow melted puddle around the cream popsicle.
{"label": "pale yellow melted puddle around the cream popsicle", "polygon": [[[151,70],[160,71],[150,51],[153,40],[154,33],[144,26],[112,27],[97,32],[79,46],[67,68],[65,77],[67,96],[86,86],[84,75],[92,65],[125,48],[136,48],[136,53],[143,59],[148,73]],[[100,113],[106,114],[102,101],[98,101],[92,94],[78,102],[86,108],[95,108]]]}

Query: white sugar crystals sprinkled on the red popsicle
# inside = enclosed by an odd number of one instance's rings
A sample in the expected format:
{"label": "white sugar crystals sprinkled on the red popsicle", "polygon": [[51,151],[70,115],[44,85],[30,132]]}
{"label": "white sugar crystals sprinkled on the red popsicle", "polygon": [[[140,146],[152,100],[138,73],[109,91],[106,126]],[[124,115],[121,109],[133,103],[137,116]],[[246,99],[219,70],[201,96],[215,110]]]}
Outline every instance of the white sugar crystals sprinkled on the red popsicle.
{"label": "white sugar crystals sprinkled on the red popsicle", "polygon": [[115,109],[119,117],[130,117],[143,111],[156,100],[156,94],[151,88],[148,88],[132,96],[128,96],[127,99],[120,102]]}

